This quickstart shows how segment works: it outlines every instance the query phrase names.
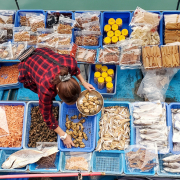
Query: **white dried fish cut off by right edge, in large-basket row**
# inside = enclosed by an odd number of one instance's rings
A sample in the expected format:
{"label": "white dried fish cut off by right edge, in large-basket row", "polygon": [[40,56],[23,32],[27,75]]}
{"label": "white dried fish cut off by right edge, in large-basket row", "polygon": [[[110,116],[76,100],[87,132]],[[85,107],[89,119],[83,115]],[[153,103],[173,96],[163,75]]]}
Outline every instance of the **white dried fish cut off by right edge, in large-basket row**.
{"label": "white dried fish cut off by right edge, in large-basket row", "polygon": [[173,150],[180,150],[180,109],[171,109],[173,129]]}

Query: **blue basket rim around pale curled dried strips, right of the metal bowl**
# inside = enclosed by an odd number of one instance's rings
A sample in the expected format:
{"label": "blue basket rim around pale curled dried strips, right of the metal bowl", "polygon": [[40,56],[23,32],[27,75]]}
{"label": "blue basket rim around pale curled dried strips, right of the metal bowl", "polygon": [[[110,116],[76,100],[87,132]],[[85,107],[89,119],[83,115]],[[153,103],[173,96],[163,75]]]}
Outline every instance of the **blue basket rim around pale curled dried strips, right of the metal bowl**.
{"label": "blue basket rim around pale curled dried strips, right of the metal bowl", "polygon": [[[109,107],[109,106],[123,106],[123,107],[128,107],[130,110],[130,103],[129,102],[121,102],[121,101],[104,101],[104,107]],[[97,115],[97,133],[96,133],[96,146],[97,142],[99,140],[99,121],[101,118],[101,112],[98,113]],[[134,144],[134,138],[133,138],[133,121],[132,121],[132,115],[130,113],[130,145]],[[102,150],[102,153],[124,153],[124,150]]]}

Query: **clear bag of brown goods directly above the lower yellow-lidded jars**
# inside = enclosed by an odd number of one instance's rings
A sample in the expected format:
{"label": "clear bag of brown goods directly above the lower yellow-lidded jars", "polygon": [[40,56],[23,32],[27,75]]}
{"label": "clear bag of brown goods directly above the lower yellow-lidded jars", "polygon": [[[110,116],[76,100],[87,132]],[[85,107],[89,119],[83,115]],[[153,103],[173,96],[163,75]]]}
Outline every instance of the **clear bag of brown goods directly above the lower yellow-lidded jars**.
{"label": "clear bag of brown goods directly above the lower yellow-lidded jars", "polygon": [[119,64],[120,49],[117,45],[105,45],[99,51],[99,62],[103,64]]}

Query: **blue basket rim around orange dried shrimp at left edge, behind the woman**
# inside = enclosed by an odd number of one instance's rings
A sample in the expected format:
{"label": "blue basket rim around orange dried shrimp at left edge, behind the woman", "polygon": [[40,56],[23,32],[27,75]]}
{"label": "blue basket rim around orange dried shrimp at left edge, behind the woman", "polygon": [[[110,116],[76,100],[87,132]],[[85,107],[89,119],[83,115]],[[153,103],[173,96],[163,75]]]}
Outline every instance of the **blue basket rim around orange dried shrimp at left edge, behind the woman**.
{"label": "blue basket rim around orange dried shrimp at left edge, behind the woman", "polygon": [[[17,64],[17,63],[13,63],[13,62],[0,62],[0,68],[2,66],[12,66],[14,64]],[[1,70],[1,69],[0,69]],[[13,83],[13,84],[3,84],[3,85],[0,85],[0,90],[6,90],[6,89],[18,89],[21,87],[21,83],[20,82],[17,82],[17,83]]]}

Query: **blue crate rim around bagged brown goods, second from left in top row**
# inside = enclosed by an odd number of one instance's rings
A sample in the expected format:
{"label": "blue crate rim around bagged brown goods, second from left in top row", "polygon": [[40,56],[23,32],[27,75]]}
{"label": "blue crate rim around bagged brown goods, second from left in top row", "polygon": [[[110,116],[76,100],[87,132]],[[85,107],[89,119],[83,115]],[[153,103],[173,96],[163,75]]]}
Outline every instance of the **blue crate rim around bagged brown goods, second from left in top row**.
{"label": "blue crate rim around bagged brown goods, second from left in top row", "polygon": [[[16,12],[16,17],[15,17],[15,27],[20,27],[20,16],[25,16],[26,13],[36,13],[37,15],[40,15],[40,14],[44,14],[44,16],[46,16],[46,13],[45,11],[43,10],[38,10],[38,9],[23,9],[23,10],[18,10]],[[45,21],[45,18],[44,18],[44,21]],[[46,27],[46,22],[45,22],[45,27]]]}

